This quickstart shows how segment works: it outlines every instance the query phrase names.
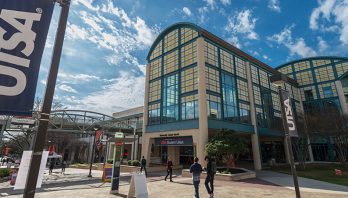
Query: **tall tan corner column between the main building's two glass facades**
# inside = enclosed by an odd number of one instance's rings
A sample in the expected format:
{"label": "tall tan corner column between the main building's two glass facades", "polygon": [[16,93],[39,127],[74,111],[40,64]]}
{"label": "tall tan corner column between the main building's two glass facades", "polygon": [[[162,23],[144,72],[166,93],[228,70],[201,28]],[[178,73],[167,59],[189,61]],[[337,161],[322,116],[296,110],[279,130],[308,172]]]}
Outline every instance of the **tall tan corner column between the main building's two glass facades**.
{"label": "tall tan corner column between the main building's two glass facades", "polygon": [[204,161],[204,148],[208,143],[208,115],[207,115],[207,93],[205,79],[204,39],[197,39],[197,69],[198,69],[198,103],[199,103],[199,134],[196,145],[197,157],[202,166]]}

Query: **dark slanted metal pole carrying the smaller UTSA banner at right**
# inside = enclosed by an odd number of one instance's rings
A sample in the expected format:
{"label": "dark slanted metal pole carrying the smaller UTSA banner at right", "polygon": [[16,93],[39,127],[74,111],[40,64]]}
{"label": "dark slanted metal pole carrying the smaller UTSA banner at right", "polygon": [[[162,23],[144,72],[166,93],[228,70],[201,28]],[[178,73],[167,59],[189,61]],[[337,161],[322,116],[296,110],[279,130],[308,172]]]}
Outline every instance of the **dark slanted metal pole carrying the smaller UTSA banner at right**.
{"label": "dark slanted metal pole carrying the smaller UTSA banner at right", "polygon": [[279,93],[279,98],[280,98],[280,106],[281,106],[281,111],[282,111],[282,120],[283,120],[283,127],[284,127],[284,131],[285,131],[285,139],[286,139],[286,143],[287,143],[287,149],[290,155],[290,168],[291,168],[291,174],[292,174],[292,178],[294,180],[294,187],[295,187],[295,192],[296,192],[296,198],[301,198],[301,194],[300,194],[300,188],[298,185],[298,180],[297,180],[297,172],[296,172],[296,166],[295,166],[295,162],[294,162],[294,153],[292,151],[292,145],[291,145],[291,137],[288,131],[288,123],[286,122],[286,113],[285,113],[285,107],[282,101],[284,96],[283,96],[283,92],[282,92],[282,88],[281,86],[278,87],[278,93]]}

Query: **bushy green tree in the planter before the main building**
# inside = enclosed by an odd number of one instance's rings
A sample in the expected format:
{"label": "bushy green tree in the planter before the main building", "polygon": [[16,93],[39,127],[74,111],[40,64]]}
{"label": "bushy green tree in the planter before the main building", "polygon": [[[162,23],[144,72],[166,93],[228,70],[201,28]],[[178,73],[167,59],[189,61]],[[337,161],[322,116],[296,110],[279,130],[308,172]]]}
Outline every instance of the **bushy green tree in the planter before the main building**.
{"label": "bushy green tree in the planter before the main building", "polygon": [[232,130],[221,130],[205,145],[206,155],[221,156],[223,163],[229,167],[233,167],[239,156],[246,152],[248,141]]}

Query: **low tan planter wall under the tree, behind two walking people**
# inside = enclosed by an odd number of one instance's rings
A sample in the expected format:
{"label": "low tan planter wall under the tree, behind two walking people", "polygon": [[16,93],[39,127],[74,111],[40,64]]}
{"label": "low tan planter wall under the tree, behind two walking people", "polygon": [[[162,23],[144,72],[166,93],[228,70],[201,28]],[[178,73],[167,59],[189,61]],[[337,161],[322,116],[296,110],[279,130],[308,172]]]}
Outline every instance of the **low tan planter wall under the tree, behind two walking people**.
{"label": "low tan planter wall under the tree, behind two walking people", "polygon": [[[223,174],[223,173],[216,173],[214,179],[215,180],[222,180],[222,181],[239,181],[243,179],[251,179],[256,178],[256,174],[254,171],[250,171],[245,168],[236,168],[241,171],[242,173],[236,173],[236,174]],[[202,172],[201,178],[205,178],[207,176],[206,172]],[[183,169],[182,170],[182,177],[192,177],[189,169]]]}

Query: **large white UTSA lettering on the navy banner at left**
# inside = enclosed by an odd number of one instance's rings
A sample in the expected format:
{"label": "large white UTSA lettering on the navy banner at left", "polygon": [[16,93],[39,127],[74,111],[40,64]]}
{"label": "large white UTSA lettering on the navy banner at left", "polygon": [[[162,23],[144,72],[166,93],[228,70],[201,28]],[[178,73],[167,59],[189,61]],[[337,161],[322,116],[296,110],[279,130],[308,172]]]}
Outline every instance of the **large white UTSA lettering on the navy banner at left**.
{"label": "large white UTSA lettering on the navy banner at left", "polygon": [[[16,79],[14,85],[0,85],[0,95],[16,96],[21,94],[27,86],[27,77],[23,71],[30,66],[29,56],[34,51],[36,39],[32,26],[33,23],[40,21],[41,13],[2,9],[0,19],[16,29],[16,32],[10,36],[7,30],[0,27],[0,61],[5,63],[0,64],[0,75]],[[21,48],[21,54],[13,55],[11,51],[18,47]],[[22,67],[22,70],[10,67],[8,64]]]}

